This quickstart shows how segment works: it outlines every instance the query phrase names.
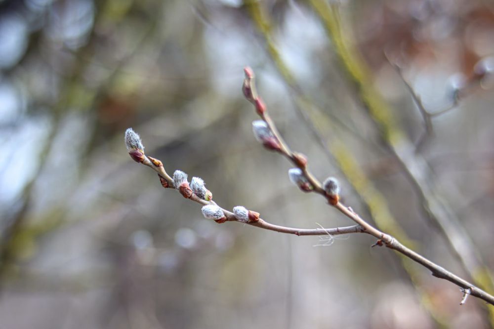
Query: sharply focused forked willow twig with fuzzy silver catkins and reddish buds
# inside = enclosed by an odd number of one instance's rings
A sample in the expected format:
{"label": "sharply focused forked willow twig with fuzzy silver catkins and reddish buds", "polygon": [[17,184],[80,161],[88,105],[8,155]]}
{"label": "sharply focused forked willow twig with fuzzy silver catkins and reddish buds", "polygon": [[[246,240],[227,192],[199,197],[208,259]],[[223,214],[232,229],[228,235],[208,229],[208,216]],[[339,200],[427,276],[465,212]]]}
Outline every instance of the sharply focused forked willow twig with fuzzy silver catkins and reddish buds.
{"label": "sharply focused forked willow twig with fuzzy silver catkins and reddish buds", "polygon": [[[170,175],[168,175],[168,173],[166,172],[163,163],[160,160],[148,157],[144,154],[143,151],[144,147],[141,143],[140,137],[132,129],[129,128],[125,133],[125,143],[127,145],[127,149],[129,151],[129,155],[131,156],[131,158],[134,161],[144,164],[155,170],[160,176],[160,181],[163,187],[175,188],[186,199],[190,199],[196,203],[203,205],[203,214],[207,218],[213,218],[213,216],[209,216],[209,214],[205,211],[205,208],[208,208],[208,206],[213,206],[214,211],[211,211],[211,215],[216,216],[214,218],[217,223],[224,223],[226,221],[245,222],[251,226],[255,226],[275,232],[280,232],[280,233],[294,234],[297,236],[367,233],[378,239],[378,242],[376,243],[377,245],[386,246],[390,249],[400,252],[406,257],[412,259],[414,262],[429,269],[433,276],[444,280],[448,280],[453,284],[457,285],[458,287],[460,287],[461,289],[463,289],[463,291],[465,291],[466,289],[470,289],[469,291],[472,296],[481,298],[486,302],[494,305],[494,296],[490,295],[489,293],[487,293],[486,291],[480,288],[475,287],[468,281],[454,275],[453,273],[449,272],[443,267],[419,255],[412,249],[405,247],[400,242],[398,242],[398,240],[393,238],[391,235],[386,234],[378,230],[377,228],[373,227],[371,224],[365,221],[361,216],[359,216],[355,211],[353,211],[352,208],[341,204],[339,202],[339,196],[338,196],[339,187],[336,186],[335,188],[334,186],[334,184],[337,183],[335,181],[330,181],[333,184],[329,186],[327,183],[328,180],[326,180],[323,186],[323,184],[321,184],[321,182],[319,182],[317,178],[308,170],[307,159],[305,158],[305,156],[299,153],[292,152],[289,149],[288,144],[282,138],[282,136],[278,132],[278,129],[276,128],[275,123],[272,121],[271,117],[269,116],[263,101],[257,95],[257,92],[255,91],[253,92],[253,90],[255,90],[255,84],[253,83],[254,75],[252,70],[250,68],[246,68],[245,73],[246,73],[246,79],[243,85],[244,95],[246,96],[247,100],[249,100],[255,106],[256,112],[259,114],[259,116],[262,119],[262,123],[264,124],[257,126],[257,129],[260,129],[260,131],[256,131],[256,125],[254,125],[254,133],[257,135],[259,140],[263,143],[263,145],[266,148],[284,155],[301,171],[303,177],[306,179],[307,184],[309,184],[309,185],[305,185],[304,183],[303,185],[304,191],[315,192],[322,195],[323,197],[325,197],[325,199],[329,202],[331,206],[333,206],[338,211],[343,213],[345,216],[350,218],[353,222],[355,222],[356,225],[333,228],[333,229],[324,229],[324,228],[298,229],[298,228],[291,228],[291,227],[270,224],[264,221],[262,218],[259,218],[259,213],[253,212],[251,210],[248,210],[248,217],[246,214],[244,218],[240,218],[239,215],[237,215],[236,213],[219,207],[212,200],[212,194],[210,193],[210,191],[204,189],[204,193],[203,191],[201,191],[202,196],[200,196],[200,194],[198,194],[195,187],[192,187],[191,189],[187,181],[187,175],[184,172],[177,170],[173,174],[173,177],[170,177]],[[192,179],[192,181],[194,181],[194,178]],[[202,187],[204,188],[204,182],[202,183],[203,183]],[[191,185],[192,184],[193,183],[191,182]],[[299,187],[302,188],[302,186]],[[194,192],[192,191],[193,189]],[[247,212],[247,209],[245,209],[245,211]]]}

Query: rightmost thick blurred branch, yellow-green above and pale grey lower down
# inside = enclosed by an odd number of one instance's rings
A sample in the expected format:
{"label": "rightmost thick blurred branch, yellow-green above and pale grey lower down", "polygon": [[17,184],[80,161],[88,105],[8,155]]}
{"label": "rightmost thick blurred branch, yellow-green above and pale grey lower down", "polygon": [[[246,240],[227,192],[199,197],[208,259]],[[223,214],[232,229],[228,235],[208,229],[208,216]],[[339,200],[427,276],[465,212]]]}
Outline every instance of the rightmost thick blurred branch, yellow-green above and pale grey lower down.
{"label": "rightmost thick blurred branch, yellow-green above and pale grey lower down", "polygon": [[[479,287],[494,290],[492,275],[469,238],[468,233],[460,224],[449,203],[440,197],[440,191],[434,182],[434,173],[420,155],[415,154],[414,145],[407,139],[395,123],[391,110],[372,87],[369,73],[357,51],[343,33],[338,6],[329,5],[325,1],[310,0],[310,4],[321,18],[328,36],[333,41],[342,68],[353,83],[362,104],[368,110],[371,119],[382,133],[382,141],[396,157],[421,199],[427,218],[439,228],[439,232],[448,242],[453,254],[462,264],[473,282]],[[489,306],[490,321],[494,324],[494,307]]]}

